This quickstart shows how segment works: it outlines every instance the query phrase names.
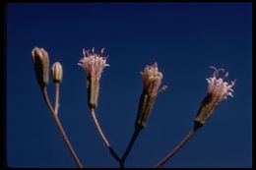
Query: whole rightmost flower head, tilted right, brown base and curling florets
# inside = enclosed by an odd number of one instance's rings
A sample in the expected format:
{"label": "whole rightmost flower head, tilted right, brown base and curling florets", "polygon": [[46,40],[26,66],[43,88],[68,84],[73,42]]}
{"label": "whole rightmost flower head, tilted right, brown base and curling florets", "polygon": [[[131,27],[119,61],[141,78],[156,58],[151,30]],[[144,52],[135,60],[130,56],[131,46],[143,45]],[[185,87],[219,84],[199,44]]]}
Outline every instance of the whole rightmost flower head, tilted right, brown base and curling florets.
{"label": "whole rightmost flower head, tilted right, brown base and curling florets", "polygon": [[213,66],[210,68],[214,69],[215,72],[212,78],[206,79],[208,82],[208,93],[203,99],[195,118],[196,125],[200,127],[203,126],[209,117],[213,114],[219,102],[221,102],[223,99],[226,99],[228,95],[233,96],[232,87],[235,85],[236,81],[231,81],[231,83],[228,84],[224,81],[224,79],[228,76],[227,72],[224,74],[223,79],[218,78],[220,71],[224,72],[224,69],[217,69]]}

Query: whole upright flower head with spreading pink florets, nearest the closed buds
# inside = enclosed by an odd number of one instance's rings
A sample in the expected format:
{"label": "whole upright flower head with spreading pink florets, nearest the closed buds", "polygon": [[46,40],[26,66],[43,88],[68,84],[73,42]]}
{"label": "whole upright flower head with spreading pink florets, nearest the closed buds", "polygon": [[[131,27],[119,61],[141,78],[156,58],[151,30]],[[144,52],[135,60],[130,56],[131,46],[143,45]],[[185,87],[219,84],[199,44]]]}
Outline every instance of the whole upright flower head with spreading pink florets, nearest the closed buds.
{"label": "whole upright flower head with spreading pink florets, nearest the closed buds", "polygon": [[88,104],[90,108],[96,108],[97,97],[99,90],[99,80],[106,64],[106,57],[103,57],[104,48],[101,49],[100,54],[96,54],[95,48],[92,51],[83,49],[84,57],[78,63],[87,73],[88,80]]}

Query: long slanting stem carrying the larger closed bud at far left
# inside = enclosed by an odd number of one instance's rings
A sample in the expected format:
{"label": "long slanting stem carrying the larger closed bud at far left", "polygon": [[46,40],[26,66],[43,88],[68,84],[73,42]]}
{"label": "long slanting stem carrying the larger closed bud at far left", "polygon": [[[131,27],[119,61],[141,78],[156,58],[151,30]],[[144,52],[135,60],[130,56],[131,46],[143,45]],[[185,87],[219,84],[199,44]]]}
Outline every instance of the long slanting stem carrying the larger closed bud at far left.
{"label": "long slanting stem carrying the larger closed bud at far left", "polygon": [[[60,131],[60,134],[61,134],[61,136],[62,136],[62,138],[63,138],[63,141],[64,141],[64,142],[66,143],[66,145],[68,146],[69,151],[71,152],[73,158],[75,159],[75,161],[76,161],[78,167],[79,167],[79,168],[83,168],[82,163],[80,162],[80,160],[79,160],[79,158],[78,158],[76,152],[74,151],[74,149],[73,149],[71,143],[70,143],[69,140],[68,140],[68,137],[67,137],[67,135],[66,135],[66,133],[65,133],[65,131],[64,131],[63,127],[62,127],[62,125],[61,125],[61,122],[60,122],[60,120],[59,120],[59,118],[58,118],[56,112],[53,110],[53,107],[52,107],[52,105],[51,105],[51,103],[50,103],[50,101],[49,101],[49,97],[48,97],[48,94],[47,94],[47,88],[46,88],[46,86],[44,86],[44,87],[41,89],[41,92],[42,92],[42,94],[43,94],[44,101],[46,102],[47,107],[48,107],[48,109],[50,110],[50,113],[51,113],[51,115],[52,115],[52,117],[53,117],[55,123],[57,124],[57,127],[59,128],[59,131]],[[56,105],[55,105],[55,108],[56,108]]]}

